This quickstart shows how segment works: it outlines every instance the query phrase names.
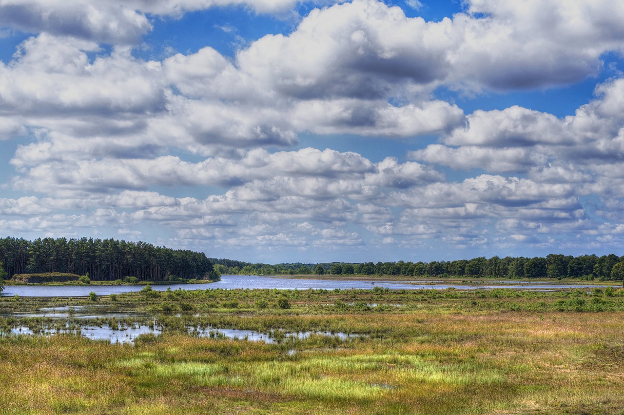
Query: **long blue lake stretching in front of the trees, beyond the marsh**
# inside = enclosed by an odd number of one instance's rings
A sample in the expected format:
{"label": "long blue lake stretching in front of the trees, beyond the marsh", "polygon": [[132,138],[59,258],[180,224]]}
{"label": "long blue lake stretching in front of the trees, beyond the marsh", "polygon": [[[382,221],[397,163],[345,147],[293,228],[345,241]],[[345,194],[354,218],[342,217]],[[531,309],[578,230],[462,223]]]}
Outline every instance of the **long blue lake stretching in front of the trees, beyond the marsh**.
{"label": "long blue lake stretching in front of the trees, beyond the marsh", "polygon": [[[284,278],[264,275],[222,275],[221,281],[210,284],[163,284],[152,285],[157,291],[167,288],[177,290],[210,290],[221,288],[277,288],[278,290],[372,290],[376,286],[389,288],[389,290],[420,290],[433,289],[444,290],[449,287],[457,290],[490,290],[492,288],[516,288],[522,290],[557,290],[560,288],[593,288],[590,284],[570,283],[534,283],[533,281],[495,281],[495,283],[472,283],[472,284],[449,284],[444,280],[414,280],[414,281],[390,281],[390,280],[320,280]],[[2,296],[19,295],[21,297],[76,297],[88,296],[90,291],[97,295],[121,294],[142,290],[143,285],[7,285],[4,286]]]}

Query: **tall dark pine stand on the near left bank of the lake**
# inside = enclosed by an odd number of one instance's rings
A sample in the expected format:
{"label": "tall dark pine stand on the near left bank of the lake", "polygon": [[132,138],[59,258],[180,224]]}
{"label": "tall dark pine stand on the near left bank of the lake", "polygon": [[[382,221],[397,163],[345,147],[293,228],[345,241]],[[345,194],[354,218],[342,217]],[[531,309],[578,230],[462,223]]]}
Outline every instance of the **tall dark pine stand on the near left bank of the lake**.
{"label": "tall dark pine stand on the near left bank of the lake", "polygon": [[0,238],[0,262],[8,278],[48,272],[89,273],[94,281],[126,276],[142,281],[218,278],[204,253],[114,239]]}

